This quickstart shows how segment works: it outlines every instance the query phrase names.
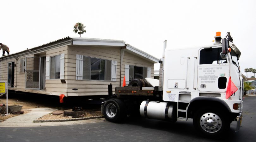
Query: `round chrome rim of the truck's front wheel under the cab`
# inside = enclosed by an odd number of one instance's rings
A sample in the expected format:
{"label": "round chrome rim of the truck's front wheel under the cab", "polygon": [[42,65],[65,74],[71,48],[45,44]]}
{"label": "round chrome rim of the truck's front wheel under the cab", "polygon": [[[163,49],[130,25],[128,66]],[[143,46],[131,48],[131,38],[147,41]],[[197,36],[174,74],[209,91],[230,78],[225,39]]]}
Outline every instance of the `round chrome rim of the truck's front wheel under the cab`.
{"label": "round chrome rim of the truck's front wheel under the cab", "polygon": [[201,128],[208,133],[216,133],[222,127],[222,120],[215,113],[204,113],[199,121]]}

